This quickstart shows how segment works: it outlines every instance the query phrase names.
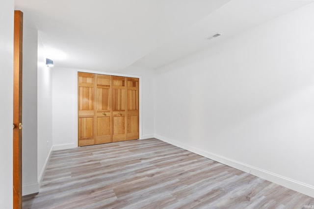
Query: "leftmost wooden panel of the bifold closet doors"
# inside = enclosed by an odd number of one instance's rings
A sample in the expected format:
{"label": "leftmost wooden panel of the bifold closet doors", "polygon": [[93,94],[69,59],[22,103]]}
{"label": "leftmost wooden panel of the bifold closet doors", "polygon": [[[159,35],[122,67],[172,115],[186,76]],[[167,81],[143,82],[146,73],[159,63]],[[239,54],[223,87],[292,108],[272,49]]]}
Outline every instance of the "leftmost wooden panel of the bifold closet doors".
{"label": "leftmost wooden panel of the bifold closet doors", "polygon": [[78,72],[78,146],[95,144],[95,75]]}

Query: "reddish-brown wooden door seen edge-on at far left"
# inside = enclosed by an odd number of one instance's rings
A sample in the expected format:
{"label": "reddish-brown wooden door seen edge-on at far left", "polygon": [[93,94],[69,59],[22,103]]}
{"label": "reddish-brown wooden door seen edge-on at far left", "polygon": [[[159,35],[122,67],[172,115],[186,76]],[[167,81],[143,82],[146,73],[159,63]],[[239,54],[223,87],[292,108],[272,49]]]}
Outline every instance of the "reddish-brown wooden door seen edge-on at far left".
{"label": "reddish-brown wooden door seen edge-on at far left", "polygon": [[14,11],[13,64],[13,208],[22,209],[23,12]]}

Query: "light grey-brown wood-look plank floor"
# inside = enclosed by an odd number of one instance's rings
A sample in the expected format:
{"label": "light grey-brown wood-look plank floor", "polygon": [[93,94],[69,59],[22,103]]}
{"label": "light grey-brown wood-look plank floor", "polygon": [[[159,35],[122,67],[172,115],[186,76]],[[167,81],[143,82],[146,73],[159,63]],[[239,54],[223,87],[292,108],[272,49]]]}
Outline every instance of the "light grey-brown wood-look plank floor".
{"label": "light grey-brown wood-look plank floor", "polygon": [[314,198],[158,139],[53,151],[23,209],[301,209]]}

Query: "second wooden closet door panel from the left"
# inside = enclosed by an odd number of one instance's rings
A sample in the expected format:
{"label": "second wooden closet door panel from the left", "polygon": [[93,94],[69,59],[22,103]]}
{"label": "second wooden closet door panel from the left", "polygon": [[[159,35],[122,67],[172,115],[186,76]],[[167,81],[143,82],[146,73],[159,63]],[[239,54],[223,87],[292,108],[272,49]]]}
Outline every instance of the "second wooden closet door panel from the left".
{"label": "second wooden closet door panel from the left", "polygon": [[96,144],[111,142],[111,76],[96,74]]}

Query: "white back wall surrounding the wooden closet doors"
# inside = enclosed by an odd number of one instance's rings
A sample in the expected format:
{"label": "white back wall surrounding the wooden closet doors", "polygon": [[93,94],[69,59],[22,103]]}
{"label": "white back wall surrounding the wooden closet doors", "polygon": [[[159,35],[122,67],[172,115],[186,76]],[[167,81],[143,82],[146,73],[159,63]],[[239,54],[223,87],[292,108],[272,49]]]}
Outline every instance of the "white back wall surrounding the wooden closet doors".
{"label": "white back wall surrounding the wooden closet doors", "polygon": [[[82,71],[82,70],[79,70]],[[83,70],[86,71],[86,70]],[[78,69],[53,68],[52,114],[53,149],[77,147],[77,72]],[[92,71],[91,71],[92,72]],[[97,72],[94,72],[97,73]],[[104,73],[104,72],[98,72]],[[130,67],[119,72],[123,75],[139,75],[142,82],[142,139],[154,136],[154,77],[153,70]]]}

